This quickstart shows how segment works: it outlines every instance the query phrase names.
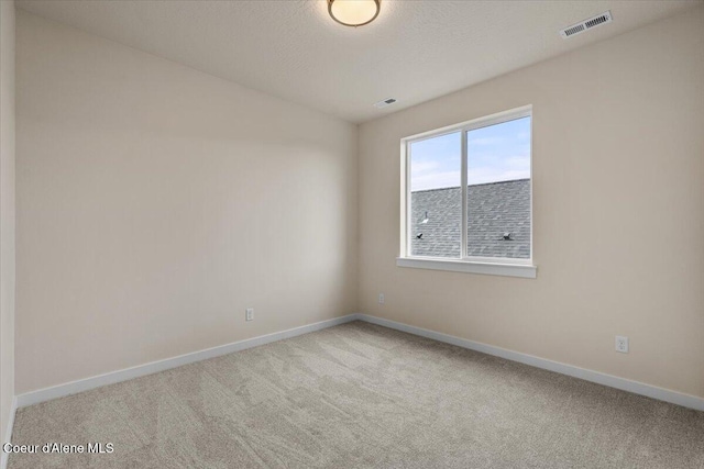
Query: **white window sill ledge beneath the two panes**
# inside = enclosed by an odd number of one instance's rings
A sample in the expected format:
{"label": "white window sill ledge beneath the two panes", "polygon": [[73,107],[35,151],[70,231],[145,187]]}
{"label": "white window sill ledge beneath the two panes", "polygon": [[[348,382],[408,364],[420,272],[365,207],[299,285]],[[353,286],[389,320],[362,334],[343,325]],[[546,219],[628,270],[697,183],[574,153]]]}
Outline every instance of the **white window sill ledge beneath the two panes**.
{"label": "white window sill ledge beneath the two panes", "polygon": [[538,267],[529,264],[480,263],[472,260],[424,259],[420,257],[398,257],[396,266],[415,269],[447,270],[451,272],[483,273],[488,276],[521,277],[535,279]]}

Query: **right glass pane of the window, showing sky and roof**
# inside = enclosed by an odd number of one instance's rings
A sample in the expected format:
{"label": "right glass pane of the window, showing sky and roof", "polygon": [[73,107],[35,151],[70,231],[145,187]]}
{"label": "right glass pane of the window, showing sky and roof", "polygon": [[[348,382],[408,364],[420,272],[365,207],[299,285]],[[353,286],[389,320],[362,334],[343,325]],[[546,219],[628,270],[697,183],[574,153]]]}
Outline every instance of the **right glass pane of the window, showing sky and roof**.
{"label": "right glass pane of the window, showing sky and roof", "polygon": [[530,258],[530,118],[468,132],[468,256]]}

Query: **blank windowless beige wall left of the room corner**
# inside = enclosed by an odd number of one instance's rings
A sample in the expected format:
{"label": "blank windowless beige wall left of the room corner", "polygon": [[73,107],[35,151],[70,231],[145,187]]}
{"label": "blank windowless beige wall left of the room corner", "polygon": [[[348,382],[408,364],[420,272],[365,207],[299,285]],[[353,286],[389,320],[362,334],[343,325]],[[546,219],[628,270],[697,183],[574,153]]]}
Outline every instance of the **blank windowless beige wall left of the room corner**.
{"label": "blank windowless beige wall left of the room corner", "polygon": [[354,125],[22,11],[16,71],[18,393],[356,310]]}

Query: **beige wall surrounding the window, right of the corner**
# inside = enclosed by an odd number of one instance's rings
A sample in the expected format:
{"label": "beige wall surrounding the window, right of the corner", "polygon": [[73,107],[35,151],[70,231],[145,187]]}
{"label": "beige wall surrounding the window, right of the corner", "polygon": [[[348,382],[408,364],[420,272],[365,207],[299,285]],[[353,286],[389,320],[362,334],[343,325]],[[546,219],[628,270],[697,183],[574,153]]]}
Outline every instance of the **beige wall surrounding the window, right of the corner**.
{"label": "beige wall surrounding the window, right of the corner", "polygon": [[[399,139],[524,104],[538,278],[396,267]],[[361,311],[704,397],[704,8],[364,123],[359,165]]]}

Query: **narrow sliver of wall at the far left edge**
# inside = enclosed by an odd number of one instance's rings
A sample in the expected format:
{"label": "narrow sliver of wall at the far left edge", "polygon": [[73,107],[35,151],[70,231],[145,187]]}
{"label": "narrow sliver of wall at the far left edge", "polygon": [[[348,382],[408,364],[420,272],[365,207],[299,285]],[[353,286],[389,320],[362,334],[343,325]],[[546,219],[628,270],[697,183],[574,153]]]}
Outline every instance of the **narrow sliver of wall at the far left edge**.
{"label": "narrow sliver of wall at the far left edge", "polygon": [[14,1],[0,1],[0,442],[14,397]]}

